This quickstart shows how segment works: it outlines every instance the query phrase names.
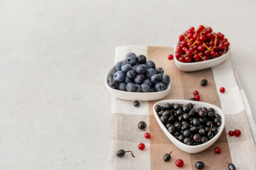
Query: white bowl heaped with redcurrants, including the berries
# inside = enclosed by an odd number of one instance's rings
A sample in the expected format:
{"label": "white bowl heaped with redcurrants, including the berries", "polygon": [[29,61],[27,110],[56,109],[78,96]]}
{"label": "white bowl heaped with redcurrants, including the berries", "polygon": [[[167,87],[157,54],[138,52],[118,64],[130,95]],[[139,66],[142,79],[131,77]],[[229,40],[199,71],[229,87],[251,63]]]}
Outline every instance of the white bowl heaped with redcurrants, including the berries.
{"label": "white bowl heaped with redcurrants, including the berries", "polygon": [[178,69],[193,72],[224,62],[230,55],[230,42],[210,27],[191,27],[178,36],[174,62]]}

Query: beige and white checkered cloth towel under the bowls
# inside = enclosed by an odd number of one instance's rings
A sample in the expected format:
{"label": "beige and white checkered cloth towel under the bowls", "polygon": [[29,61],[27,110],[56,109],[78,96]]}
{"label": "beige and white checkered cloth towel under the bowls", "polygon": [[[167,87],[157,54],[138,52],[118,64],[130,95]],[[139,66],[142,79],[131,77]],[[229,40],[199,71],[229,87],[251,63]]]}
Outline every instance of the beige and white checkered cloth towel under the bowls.
{"label": "beige and white checkered cloth towel under the bowls", "polygon": [[[135,108],[133,101],[112,98],[108,169],[179,169],[175,165],[176,159],[183,159],[182,169],[196,169],[195,163],[198,161],[206,164],[205,169],[228,169],[226,162],[233,162],[237,169],[256,169],[256,126],[245,92],[233,72],[230,58],[211,69],[181,72],[176,68],[174,61],[167,60],[167,55],[173,50],[172,47],[117,47],[115,63],[124,60],[128,52],[134,52],[137,55],[145,55],[147,60],[153,60],[156,67],[163,67],[165,74],[171,77],[171,91],[161,100],[188,99],[193,97],[194,90],[198,90],[201,101],[214,104],[225,113],[226,123],[222,135],[205,151],[188,154],[178,149],[159,128],[153,114],[153,105],[156,101],[140,102],[140,107]],[[208,80],[207,86],[200,85],[202,79]],[[218,91],[221,86],[225,86],[225,94]],[[137,128],[137,124],[142,120],[147,124],[145,131]],[[235,129],[241,130],[240,137],[226,135],[229,130]],[[145,132],[151,133],[150,140],[144,137]],[[141,142],[146,145],[143,151],[138,149]],[[222,149],[220,154],[213,152],[217,146]],[[115,154],[119,149],[132,150],[136,158],[129,153],[122,158],[117,157]],[[173,151],[171,161],[164,162],[164,154],[170,151]]]}

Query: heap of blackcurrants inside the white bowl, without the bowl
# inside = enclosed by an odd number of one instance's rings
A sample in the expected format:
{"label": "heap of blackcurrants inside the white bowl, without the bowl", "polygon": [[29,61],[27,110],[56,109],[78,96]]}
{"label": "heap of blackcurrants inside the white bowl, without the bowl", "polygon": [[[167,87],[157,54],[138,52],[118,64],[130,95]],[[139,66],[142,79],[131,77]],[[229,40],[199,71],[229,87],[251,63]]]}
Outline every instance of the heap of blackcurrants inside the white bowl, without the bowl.
{"label": "heap of blackcurrants inside the white bowl, without the bowl", "polygon": [[154,109],[171,135],[186,145],[208,142],[221,125],[220,115],[213,108],[193,108],[192,103],[166,103]]}

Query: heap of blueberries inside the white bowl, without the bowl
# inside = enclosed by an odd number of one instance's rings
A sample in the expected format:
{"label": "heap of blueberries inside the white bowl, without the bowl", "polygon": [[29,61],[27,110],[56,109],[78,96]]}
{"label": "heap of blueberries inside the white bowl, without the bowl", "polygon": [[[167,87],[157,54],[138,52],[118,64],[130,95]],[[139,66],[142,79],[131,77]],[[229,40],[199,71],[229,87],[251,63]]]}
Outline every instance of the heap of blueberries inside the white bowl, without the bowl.
{"label": "heap of blueberries inside the white bowl, without the bowl", "polygon": [[114,72],[108,78],[108,84],[113,89],[130,92],[164,91],[170,83],[170,77],[164,74],[164,69],[151,60],[146,61],[144,55],[138,57],[130,52],[125,62],[117,62]]}

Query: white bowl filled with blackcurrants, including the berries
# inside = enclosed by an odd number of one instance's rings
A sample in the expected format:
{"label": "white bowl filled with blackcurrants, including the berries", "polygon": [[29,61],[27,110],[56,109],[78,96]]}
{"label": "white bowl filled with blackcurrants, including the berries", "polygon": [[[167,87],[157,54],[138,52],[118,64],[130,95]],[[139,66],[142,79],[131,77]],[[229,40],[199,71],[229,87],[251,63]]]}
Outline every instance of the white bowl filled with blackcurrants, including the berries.
{"label": "white bowl filled with blackcurrants, including the berries", "polygon": [[161,130],[179,149],[198,153],[213,145],[225,126],[223,111],[200,101],[165,100],[153,106]]}

